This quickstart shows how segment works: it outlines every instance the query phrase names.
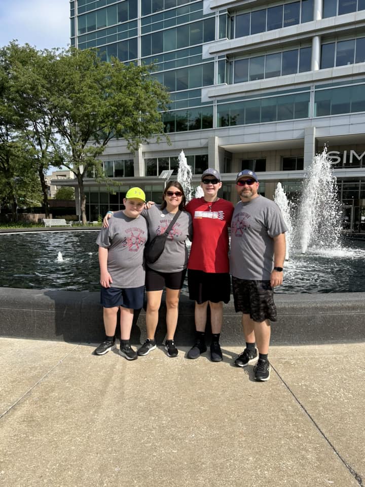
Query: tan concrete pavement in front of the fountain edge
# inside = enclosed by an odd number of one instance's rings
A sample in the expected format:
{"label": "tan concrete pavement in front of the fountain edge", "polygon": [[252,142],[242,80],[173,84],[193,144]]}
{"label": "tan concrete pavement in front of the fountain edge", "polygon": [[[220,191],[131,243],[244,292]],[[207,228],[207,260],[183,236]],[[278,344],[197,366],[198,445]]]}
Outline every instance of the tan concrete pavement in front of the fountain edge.
{"label": "tan concrete pavement in front of the fountain edge", "polygon": [[0,485],[365,483],[365,343],[272,346],[271,378],[162,346],[128,362],[0,338]]}

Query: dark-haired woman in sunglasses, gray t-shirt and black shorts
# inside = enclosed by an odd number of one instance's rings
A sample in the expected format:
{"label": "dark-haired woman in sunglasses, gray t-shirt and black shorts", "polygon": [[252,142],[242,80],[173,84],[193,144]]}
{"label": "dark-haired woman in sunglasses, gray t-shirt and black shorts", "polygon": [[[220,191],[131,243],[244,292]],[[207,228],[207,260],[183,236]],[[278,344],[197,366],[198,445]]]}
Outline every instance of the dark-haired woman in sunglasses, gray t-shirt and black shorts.
{"label": "dark-haired woman in sunglasses, gray t-shirt and black shorts", "polygon": [[[138,349],[139,356],[148,355],[156,349],[155,333],[159,318],[162,292],[166,288],[166,342],[165,350],[169,357],[178,355],[174,335],[178,318],[178,302],[182,284],[188,266],[186,239],[192,239],[193,226],[191,215],[184,211],[186,198],[182,186],[177,181],[170,181],[162,195],[162,203],[151,205],[141,215],[147,220],[149,238],[161,235],[169,226],[175,214],[181,213],[175,221],[166,239],[165,249],[153,264],[145,265],[145,288],[147,292],[146,327],[147,339]],[[107,217],[103,225],[107,226]]]}

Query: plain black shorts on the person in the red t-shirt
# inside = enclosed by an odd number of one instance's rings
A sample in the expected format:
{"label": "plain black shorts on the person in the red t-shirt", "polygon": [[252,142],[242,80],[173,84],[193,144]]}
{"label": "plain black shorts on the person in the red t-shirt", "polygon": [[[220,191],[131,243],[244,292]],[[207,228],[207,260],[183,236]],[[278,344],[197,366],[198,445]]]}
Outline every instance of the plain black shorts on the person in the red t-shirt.
{"label": "plain black shorts on the person in the red t-shirt", "polygon": [[189,298],[198,304],[211,301],[226,304],[231,298],[231,279],[226,272],[203,272],[202,270],[188,270]]}

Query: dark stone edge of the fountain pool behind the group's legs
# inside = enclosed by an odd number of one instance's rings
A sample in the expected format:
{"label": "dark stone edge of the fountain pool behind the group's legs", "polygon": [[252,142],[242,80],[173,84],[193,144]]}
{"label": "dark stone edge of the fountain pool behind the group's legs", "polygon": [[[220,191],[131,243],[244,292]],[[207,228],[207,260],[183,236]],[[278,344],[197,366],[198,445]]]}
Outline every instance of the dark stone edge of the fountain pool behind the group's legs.
{"label": "dark stone edge of the fountain pool behind the group's legs", "polygon": [[[365,341],[365,293],[276,294],[278,320],[272,344],[315,344]],[[233,301],[224,305],[221,341],[244,344],[241,315]],[[165,337],[165,308],[156,333]],[[194,340],[194,302],[180,297],[175,342]],[[209,334],[209,333],[208,333]],[[97,343],[104,337],[98,292],[0,288],[0,336]],[[145,337],[145,310],[135,314],[131,342]]]}

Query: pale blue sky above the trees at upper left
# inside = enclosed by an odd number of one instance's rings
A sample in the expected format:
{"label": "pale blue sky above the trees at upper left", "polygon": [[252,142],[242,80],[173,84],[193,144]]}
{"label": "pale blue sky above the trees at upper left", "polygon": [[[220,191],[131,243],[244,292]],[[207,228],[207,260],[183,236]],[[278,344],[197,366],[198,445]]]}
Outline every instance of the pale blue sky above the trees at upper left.
{"label": "pale blue sky above the trees at upper left", "polygon": [[69,0],[0,0],[0,47],[14,39],[39,50],[67,48]]}

